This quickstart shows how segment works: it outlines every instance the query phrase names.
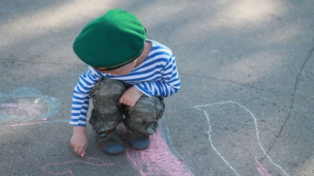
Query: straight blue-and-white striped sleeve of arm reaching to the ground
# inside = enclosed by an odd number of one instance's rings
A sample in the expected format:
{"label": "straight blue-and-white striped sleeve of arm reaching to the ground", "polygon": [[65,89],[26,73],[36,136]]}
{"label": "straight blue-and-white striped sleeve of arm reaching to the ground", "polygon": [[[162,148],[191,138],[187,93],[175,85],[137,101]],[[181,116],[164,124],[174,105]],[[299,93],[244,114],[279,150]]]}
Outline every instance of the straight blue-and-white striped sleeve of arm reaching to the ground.
{"label": "straight blue-and-white striped sleeve of arm reaching to the ground", "polygon": [[71,125],[86,126],[89,93],[102,77],[104,76],[91,66],[88,66],[88,71],[80,76],[72,98]]}

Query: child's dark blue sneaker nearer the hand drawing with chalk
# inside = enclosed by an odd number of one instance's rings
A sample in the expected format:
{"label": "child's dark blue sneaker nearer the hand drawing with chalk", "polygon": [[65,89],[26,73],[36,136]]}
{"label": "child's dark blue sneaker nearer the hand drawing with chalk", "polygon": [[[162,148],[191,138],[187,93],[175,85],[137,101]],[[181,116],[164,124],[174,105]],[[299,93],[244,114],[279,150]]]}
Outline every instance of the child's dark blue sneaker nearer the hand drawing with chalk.
{"label": "child's dark blue sneaker nearer the hand drawing with chalk", "polygon": [[119,154],[125,151],[125,146],[115,130],[98,133],[97,141],[101,149],[108,154]]}

